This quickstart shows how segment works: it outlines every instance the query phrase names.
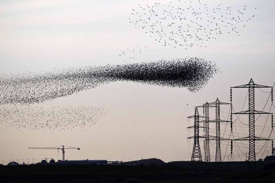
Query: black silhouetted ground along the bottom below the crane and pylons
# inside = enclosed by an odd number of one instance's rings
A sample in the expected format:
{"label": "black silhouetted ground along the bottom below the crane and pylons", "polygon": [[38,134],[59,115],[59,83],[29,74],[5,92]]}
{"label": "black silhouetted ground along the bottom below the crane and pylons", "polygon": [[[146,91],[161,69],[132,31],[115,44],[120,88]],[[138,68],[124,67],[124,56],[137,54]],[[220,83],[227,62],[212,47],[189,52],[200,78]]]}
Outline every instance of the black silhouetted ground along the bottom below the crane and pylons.
{"label": "black silhouetted ground along the bottom below the crane and pylons", "polygon": [[[188,162],[186,162],[188,163]],[[247,163],[247,162],[242,162]],[[274,182],[275,164],[266,166],[266,170],[248,172],[234,169],[231,171],[205,172],[179,166],[184,162],[156,165],[35,165],[0,167],[1,182],[114,182],[114,183],[170,183],[170,182]],[[212,163],[215,167],[215,163]],[[227,163],[228,164],[228,163]],[[222,166],[226,164],[222,164]],[[240,163],[238,164],[240,166]],[[196,167],[196,165],[195,165]],[[226,166],[228,167],[228,165]]]}

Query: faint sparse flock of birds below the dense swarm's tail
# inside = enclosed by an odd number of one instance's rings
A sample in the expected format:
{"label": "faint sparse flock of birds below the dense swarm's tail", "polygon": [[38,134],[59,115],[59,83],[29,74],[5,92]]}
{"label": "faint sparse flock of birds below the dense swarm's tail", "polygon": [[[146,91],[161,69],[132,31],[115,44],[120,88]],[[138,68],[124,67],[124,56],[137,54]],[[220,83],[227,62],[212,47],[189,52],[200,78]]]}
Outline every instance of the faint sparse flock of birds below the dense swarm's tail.
{"label": "faint sparse flock of birds below the dense swarm's tail", "polygon": [[16,131],[44,130],[60,132],[66,130],[86,131],[98,122],[108,111],[101,107],[33,105],[5,105],[0,108],[1,128]]}

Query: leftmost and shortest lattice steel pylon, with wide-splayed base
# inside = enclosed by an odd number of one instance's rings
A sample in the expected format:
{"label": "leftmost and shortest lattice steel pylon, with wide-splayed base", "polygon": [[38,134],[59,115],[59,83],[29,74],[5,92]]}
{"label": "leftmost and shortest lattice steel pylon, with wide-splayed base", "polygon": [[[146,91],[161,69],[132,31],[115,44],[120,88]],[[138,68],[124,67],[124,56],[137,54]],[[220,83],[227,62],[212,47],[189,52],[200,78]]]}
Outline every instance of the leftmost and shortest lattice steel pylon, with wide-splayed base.
{"label": "leftmost and shortest lattice steel pylon, with wide-splayed base", "polygon": [[192,157],[191,161],[202,161],[201,151],[200,151],[200,133],[199,128],[203,128],[202,126],[199,126],[199,118],[203,117],[199,115],[198,108],[195,108],[195,115],[189,116],[188,118],[194,118],[194,126],[190,126],[188,128],[194,128],[194,136],[188,137],[189,139],[194,139],[194,145],[193,145],[193,151],[192,151]]}

